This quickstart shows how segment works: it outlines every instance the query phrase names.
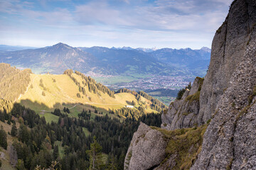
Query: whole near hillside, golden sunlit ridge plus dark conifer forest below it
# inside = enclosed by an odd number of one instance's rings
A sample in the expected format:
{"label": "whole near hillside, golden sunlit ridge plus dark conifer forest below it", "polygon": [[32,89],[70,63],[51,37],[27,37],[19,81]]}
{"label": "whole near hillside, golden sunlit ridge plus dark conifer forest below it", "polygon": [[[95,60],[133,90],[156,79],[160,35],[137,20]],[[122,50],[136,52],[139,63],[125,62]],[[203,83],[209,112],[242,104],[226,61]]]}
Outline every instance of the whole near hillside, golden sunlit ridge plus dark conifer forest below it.
{"label": "whole near hillside, golden sunlit ridge plus dark conifer forest below it", "polygon": [[143,91],[114,92],[72,69],[54,75],[0,68],[4,169],[122,169],[139,122],[159,127],[166,109]]}

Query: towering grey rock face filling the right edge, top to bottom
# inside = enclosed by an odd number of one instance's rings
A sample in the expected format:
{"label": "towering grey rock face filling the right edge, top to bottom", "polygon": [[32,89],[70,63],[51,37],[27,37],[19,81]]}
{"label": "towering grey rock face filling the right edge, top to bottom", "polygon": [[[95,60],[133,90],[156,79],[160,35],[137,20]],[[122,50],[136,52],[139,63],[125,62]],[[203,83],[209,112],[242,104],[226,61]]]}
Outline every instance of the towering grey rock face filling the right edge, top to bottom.
{"label": "towering grey rock face filling the right edge, top to bottom", "polygon": [[256,1],[236,0],[213,40],[198,122],[213,117],[191,169],[256,169]]}

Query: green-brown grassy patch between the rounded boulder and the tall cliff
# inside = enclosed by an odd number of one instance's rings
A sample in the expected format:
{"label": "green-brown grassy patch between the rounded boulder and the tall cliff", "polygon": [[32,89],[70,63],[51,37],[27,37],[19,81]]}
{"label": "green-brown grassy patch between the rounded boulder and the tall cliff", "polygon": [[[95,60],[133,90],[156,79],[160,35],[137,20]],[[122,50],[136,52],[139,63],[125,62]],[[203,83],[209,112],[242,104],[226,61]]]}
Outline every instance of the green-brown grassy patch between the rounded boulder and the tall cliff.
{"label": "green-brown grassy patch between the rounded boulder and the tall cliff", "polygon": [[[203,134],[208,125],[202,125],[198,128],[184,128],[178,130],[164,130],[151,127],[162,132],[169,140],[166,147],[167,157],[176,155],[176,166],[174,169],[190,169],[201,152],[203,143]],[[166,163],[162,162],[162,164]]]}

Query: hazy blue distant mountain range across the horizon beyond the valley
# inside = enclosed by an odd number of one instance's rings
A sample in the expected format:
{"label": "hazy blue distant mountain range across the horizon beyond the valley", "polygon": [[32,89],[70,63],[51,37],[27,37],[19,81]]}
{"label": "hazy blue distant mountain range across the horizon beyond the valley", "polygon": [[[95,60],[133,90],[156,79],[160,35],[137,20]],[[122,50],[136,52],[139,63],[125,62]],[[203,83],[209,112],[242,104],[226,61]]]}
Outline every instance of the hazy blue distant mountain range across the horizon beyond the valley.
{"label": "hazy blue distant mountain range across the horizon beyond the valley", "polygon": [[71,47],[63,43],[53,46],[12,50],[0,45],[0,62],[33,72],[61,74],[65,69],[98,74],[204,75],[210,62],[210,49],[107,48]]}

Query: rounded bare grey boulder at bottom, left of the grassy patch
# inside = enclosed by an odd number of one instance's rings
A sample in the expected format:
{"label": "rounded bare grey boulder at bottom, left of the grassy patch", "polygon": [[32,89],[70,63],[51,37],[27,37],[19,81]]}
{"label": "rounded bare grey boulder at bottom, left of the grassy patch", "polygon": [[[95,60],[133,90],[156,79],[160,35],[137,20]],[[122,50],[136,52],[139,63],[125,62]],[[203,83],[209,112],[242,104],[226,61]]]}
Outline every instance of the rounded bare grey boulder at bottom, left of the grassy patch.
{"label": "rounded bare grey boulder at bottom, left of the grassy patch", "polygon": [[143,170],[159,165],[166,156],[166,145],[161,132],[141,123],[132,137],[124,159],[124,169]]}

